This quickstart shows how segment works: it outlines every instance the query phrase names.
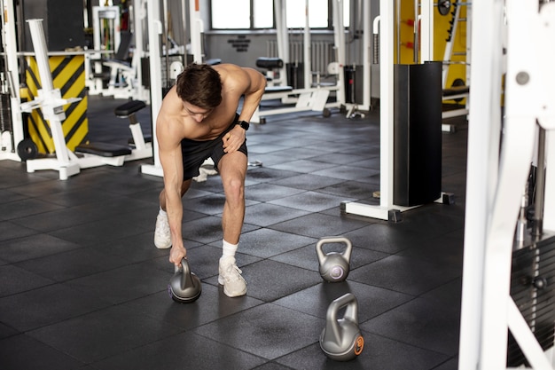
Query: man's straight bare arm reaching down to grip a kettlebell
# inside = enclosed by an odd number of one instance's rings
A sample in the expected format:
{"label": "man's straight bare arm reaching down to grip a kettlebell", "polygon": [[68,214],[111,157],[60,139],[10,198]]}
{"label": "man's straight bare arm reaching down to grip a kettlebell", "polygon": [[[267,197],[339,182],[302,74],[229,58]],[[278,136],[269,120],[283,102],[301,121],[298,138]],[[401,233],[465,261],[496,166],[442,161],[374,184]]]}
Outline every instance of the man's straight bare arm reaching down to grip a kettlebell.
{"label": "man's straight bare arm reaching down to grip a kettlebell", "polygon": [[159,144],[160,163],[164,172],[164,193],[166,195],[166,212],[168,213],[169,231],[172,247],[169,251],[169,262],[178,266],[187,256],[184,248],[182,222],[183,202],[181,187],[183,185],[183,157],[179,136],[168,120],[160,114],[156,122],[156,135]]}

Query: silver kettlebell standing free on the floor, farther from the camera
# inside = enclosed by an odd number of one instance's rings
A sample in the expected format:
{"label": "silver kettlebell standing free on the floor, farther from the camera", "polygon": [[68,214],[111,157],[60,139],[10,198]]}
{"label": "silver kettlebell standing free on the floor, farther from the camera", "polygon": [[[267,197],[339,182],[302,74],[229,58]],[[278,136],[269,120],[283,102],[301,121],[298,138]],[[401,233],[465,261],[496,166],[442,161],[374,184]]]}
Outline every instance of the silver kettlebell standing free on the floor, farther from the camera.
{"label": "silver kettlebell standing free on the floor, farther from the camera", "polygon": [[[325,254],[322,247],[327,243],[345,243],[345,250],[343,253],[330,252]],[[350,240],[345,237],[329,236],[318,240],[316,253],[318,264],[320,264],[320,276],[322,276],[322,279],[330,282],[338,282],[347,279],[352,250],[353,245]]]}

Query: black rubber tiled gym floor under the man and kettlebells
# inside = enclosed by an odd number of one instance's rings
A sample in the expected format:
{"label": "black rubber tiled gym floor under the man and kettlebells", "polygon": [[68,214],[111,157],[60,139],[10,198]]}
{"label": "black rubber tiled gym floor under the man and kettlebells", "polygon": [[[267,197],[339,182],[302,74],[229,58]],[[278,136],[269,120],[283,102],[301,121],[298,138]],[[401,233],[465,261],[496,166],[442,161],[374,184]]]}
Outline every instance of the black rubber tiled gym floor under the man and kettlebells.
{"label": "black rubber tiled gym floor under the man and kettlebells", "polygon": [[[126,143],[124,103],[90,97],[91,141]],[[138,114],[150,135],[149,107]],[[217,284],[223,188],[217,176],[184,199],[184,238],[202,280],[194,303],[173,302],[168,250],[153,245],[162,179],[132,161],[66,181],[0,161],[0,368],[457,368],[467,124],[442,133],[442,191],[387,222],[342,215],[342,201],[379,204],[379,113],[270,116],[247,133],[246,219],[238,266],[247,295]],[[315,247],[353,244],[351,271],[324,282]],[[319,336],[333,299],[358,301],[362,354],[327,358]]]}

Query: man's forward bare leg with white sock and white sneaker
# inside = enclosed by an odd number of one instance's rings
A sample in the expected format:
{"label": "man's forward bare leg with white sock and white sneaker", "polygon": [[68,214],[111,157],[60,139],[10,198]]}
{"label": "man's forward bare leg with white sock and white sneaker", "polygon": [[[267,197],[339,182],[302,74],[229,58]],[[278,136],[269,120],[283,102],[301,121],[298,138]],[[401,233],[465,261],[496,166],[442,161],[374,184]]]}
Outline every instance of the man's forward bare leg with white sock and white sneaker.
{"label": "man's forward bare leg with white sock and white sneaker", "polygon": [[218,163],[222,177],[225,203],[223,205],[223,256],[220,258],[218,282],[228,296],[246,294],[246,281],[235,263],[235,252],[245,218],[246,155],[240,152],[223,155]]}

